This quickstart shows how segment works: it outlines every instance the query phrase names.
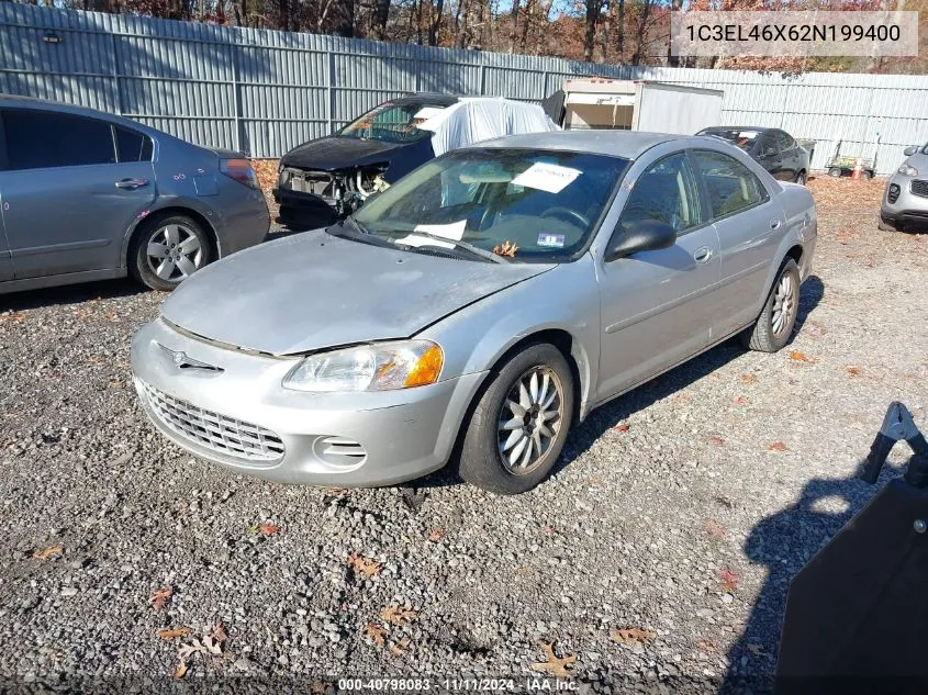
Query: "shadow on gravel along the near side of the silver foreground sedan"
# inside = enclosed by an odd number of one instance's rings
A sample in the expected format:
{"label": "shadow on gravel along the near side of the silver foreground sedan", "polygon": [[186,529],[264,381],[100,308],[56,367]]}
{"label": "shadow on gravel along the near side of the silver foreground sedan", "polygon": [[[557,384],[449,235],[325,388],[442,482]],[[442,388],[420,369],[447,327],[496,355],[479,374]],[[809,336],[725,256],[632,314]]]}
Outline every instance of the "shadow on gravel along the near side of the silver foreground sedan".
{"label": "shadow on gravel along the near side of the silver foreground sedan", "polygon": [[[802,326],[807,321],[808,315],[815,310],[824,296],[825,285],[821,279],[817,276],[806,279],[800,293],[796,327],[793,333],[794,338],[802,330]],[[685,389],[700,379],[709,375],[715,370],[743,354],[745,348],[741,347],[737,338],[726,340],[689,362],[617,397],[612,403],[596,408],[582,425],[571,433],[564,445],[563,453],[561,453],[561,458],[552,472],[560,471],[569,466],[592,447],[603,434],[634,413],[644,411],[658,401],[673,395],[681,389]]]}

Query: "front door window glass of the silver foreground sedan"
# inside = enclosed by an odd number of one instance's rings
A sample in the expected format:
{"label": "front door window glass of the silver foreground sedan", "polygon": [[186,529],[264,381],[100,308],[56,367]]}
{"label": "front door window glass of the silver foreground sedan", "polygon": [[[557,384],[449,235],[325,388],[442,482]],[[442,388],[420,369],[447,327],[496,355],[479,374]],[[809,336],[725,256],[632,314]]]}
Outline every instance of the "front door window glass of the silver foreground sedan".
{"label": "front door window glass of the silver foreground sedan", "polygon": [[638,177],[619,224],[658,220],[678,233],[703,221],[696,180],[684,153],[677,153],[655,162]]}

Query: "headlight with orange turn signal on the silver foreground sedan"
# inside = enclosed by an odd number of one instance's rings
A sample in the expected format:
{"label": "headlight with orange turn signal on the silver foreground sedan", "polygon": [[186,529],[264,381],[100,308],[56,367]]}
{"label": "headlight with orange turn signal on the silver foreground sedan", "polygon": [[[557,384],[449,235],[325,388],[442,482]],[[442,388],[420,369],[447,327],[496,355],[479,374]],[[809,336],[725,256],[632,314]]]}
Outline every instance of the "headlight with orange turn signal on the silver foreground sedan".
{"label": "headlight with orange turn signal on the silver foreground sedan", "polygon": [[297,391],[390,391],[438,381],[445,356],[429,340],[362,345],[310,355],[283,379]]}

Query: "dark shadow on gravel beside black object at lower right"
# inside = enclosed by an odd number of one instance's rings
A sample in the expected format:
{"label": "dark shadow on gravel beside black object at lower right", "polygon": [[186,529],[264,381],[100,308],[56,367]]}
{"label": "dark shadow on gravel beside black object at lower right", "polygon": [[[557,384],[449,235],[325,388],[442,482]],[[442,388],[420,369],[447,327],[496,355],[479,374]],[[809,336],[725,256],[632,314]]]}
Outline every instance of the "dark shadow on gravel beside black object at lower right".
{"label": "dark shadow on gravel beside black object at lower right", "polygon": [[790,582],[888,479],[902,472],[887,463],[877,484],[870,485],[859,478],[863,463],[849,478],[808,481],[796,502],[761,519],[751,530],[745,556],[767,568],[767,580],[741,636],[728,652],[729,668],[719,695],[773,692]]}

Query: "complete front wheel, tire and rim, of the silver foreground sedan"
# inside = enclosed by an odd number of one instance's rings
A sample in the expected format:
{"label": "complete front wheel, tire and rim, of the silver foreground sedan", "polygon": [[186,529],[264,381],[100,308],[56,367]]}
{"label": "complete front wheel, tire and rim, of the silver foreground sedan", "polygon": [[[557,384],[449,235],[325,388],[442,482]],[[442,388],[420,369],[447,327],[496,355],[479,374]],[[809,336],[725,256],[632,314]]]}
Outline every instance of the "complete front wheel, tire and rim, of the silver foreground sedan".
{"label": "complete front wheel, tire and rim, of the silver foreground sedan", "polygon": [[458,474],[490,492],[527,492],[550,472],[573,421],[573,373],[561,351],[539,343],[488,377],[463,437]]}

